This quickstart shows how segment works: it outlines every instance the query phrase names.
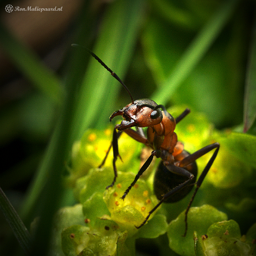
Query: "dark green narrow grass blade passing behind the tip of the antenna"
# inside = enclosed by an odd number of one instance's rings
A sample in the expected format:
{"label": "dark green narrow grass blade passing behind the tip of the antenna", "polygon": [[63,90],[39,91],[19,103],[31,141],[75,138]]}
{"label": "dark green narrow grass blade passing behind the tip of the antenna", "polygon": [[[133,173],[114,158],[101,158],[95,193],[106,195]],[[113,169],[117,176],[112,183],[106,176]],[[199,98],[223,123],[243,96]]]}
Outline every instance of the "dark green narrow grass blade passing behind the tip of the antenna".
{"label": "dark green narrow grass blade passing behind the tip of the antenna", "polygon": [[[91,19],[91,16],[88,14],[88,3],[84,3],[83,13],[81,13],[81,17],[78,19],[78,26],[76,28],[76,38],[78,39],[78,42],[84,42],[86,38],[86,34],[88,34],[89,27],[89,19]],[[71,45],[70,45],[71,48]],[[34,181],[31,183],[27,196],[25,198],[25,201],[23,203],[21,216],[24,218],[27,222],[30,222],[33,220],[34,215],[38,214],[36,212],[38,204],[42,203],[40,200],[40,196],[42,193],[44,193],[45,185],[47,184],[48,180],[50,178],[53,178],[51,176],[51,172],[54,174],[57,173],[57,176],[59,175],[59,179],[61,179],[61,170],[60,168],[64,168],[64,162],[67,161],[68,153],[70,152],[71,145],[73,140],[70,139],[70,124],[72,123],[72,119],[74,116],[74,105],[76,101],[76,94],[79,90],[80,86],[80,77],[83,75],[84,70],[83,68],[80,68],[81,65],[84,63],[84,54],[81,54],[79,52],[72,52],[70,54],[70,59],[68,60],[68,63],[66,65],[66,70],[64,71],[65,74],[65,88],[67,90],[67,93],[65,94],[66,97],[63,98],[63,104],[60,107],[60,111],[62,111],[62,115],[65,115],[65,121],[66,124],[63,124],[64,121],[59,120],[56,124],[55,131],[53,132],[53,135],[50,139],[49,146],[46,149],[45,155],[43,157],[42,163],[40,163],[39,170],[35,174]],[[66,106],[68,105],[68,106]],[[65,107],[63,110],[62,107]],[[60,117],[64,119],[64,117]],[[63,131],[62,136],[59,137],[59,132],[61,131],[61,125],[65,127],[65,130]],[[57,150],[57,144],[59,141],[67,141],[67,144],[65,147],[59,148]],[[60,168],[58,170],[52,170],[50,165],[53,164],[54,160],[57,161],[60,156],[63,156],[62,153],[65,152],[65,157],[63,161],[61,162]],[[58,156],[58,157],[56,157]],[[59,181],[59,180],[57,180]],[[53,185],[54,186],[54,185]],[[53,191],[52,191],[53,192]],[[50,206],[49,202],[49,208]],[[36,213],[35,213],[36,212]]]}

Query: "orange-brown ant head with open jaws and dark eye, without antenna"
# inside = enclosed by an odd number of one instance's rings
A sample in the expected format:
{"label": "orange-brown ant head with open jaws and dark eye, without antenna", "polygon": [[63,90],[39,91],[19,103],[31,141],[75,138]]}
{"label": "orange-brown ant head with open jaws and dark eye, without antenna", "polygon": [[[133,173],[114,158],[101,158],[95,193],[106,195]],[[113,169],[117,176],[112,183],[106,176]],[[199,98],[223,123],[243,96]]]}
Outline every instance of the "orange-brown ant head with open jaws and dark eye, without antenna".
{"label": "orange-brown ant head with open jaws and dark eye, without antenna", "polygon": [[153,100],[140,99],[135,100],[123,109],[115,111],[110,116],[110,121],[115,117],[121,115],[123,121],[117,127],[122,131],[130,127],[149,127],[160,124],[163,119],[160,107]]}

